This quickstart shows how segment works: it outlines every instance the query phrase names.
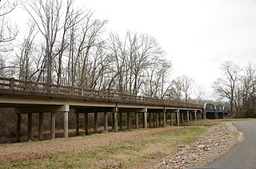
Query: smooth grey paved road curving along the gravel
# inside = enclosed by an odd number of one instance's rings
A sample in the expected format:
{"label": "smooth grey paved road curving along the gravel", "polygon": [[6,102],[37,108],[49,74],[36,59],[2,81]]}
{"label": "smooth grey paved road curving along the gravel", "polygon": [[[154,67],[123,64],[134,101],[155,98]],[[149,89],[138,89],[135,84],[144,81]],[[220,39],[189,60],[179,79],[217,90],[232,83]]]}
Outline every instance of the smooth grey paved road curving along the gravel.
{"label": "smooth grey paved road curving along the gravel", "polygon": [[238,141],[230,151],[215,159],[209,166],[256,169],[256,120],[239,121],[233,124],[239,132],[243,133],[243,140]]}

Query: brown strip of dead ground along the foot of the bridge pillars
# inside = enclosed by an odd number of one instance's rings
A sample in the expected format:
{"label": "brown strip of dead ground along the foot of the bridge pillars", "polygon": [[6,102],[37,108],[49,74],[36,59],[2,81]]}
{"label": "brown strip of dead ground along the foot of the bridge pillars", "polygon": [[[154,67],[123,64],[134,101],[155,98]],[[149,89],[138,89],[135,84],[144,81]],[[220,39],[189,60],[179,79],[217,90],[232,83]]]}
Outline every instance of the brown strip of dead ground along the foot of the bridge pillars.
{"label": "brown strip of dead ground along the foot of the bridge pillars", "polygon": [[[182,127],[180,127],[182,128]],[[0,144],[0,164],[16,162],[21,159],[38,159],[44,156],[54,155],[58,152],[75,151],[81,147],[102,147],[109,143],[118,143],[134,138],[179,130],[180,128],[155,128],[150,130],[133,130],[132,132],[109,132],[94,134],[91,136],[78,136],[72,138],[59,138],[55,140],[32,141],[25,143],[2,143]],[[150,159],[147,163],[156,163],[162,157]]]}

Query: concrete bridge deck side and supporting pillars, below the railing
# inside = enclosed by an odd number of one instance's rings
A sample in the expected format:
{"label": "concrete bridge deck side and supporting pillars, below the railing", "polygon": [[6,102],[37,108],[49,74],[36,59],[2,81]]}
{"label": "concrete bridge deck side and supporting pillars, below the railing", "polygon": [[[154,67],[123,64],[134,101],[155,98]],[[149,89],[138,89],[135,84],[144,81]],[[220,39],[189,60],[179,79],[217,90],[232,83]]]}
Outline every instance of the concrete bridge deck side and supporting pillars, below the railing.
{"label": "concrete bridge deck side and supporting pillars, below the railing", "polygon": [[[202,118],[201,108],[182,108],[159,104],[138,104],[129,102],[117,102],[113,100],[88,100],[84,98],[69,98],[63,96],[24,96],[10,93],[0,94],[0,108],[14,108],[17,114],[16,140],[20,141],[21,117],[26,115],[27,140],[32,140],[32,113],[38,113],[38,140],[43,140],[43,116],[50,112],[51,139],[55,138],[56,112],[63,114],[63,133],[68,137],[68,117],[70,110],[76,113],[76,133],[79,134],[79,120],[84,116],[84,131],[89,134],[90,113],[94,114],[94,132],[98,132],[98,113],[104,118],[104,131],[108,131],[109,118],[111,119],[111,130],[118,132],[126,126],[130,130],[134,128],[158,128],[160,126],[179,125],[180,123],[198,120]],[[126,116],[126,124],[122,124],[122,116]],[[134,117],[132,120],[131,116]],[[133,123],[133,124],[132,124]]]}

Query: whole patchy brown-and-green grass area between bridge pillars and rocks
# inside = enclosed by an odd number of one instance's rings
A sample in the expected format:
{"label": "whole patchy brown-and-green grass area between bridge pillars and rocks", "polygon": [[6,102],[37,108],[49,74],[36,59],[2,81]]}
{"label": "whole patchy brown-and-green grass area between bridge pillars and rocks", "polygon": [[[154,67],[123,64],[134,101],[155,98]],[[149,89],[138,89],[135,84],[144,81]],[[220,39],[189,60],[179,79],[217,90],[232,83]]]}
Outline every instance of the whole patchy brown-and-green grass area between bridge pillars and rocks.
{"label": "whole patchy brown-and-green grass area between bridge pillars and rocks", "polygon": [[[2,144],[2,153],[13,152],[0,159],[0,168],[148,168],[171,151],[196,140],[205,128],[166,127]],[[17,154],[18,158],[11,158]]]}

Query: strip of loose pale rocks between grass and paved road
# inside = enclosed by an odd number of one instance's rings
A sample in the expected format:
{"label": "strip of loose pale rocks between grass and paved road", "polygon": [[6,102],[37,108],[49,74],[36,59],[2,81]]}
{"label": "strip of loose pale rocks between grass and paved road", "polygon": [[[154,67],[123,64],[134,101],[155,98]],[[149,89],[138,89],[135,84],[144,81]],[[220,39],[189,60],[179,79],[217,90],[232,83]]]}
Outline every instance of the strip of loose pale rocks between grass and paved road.
{"label": "strip of loose pale rocks between grass and paved road", "polygon": [[210,126],[196,142],[174,151],[152,168],[202,167],[229,151],[237,137],[238,130],[230,122]]}

